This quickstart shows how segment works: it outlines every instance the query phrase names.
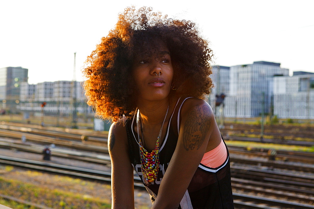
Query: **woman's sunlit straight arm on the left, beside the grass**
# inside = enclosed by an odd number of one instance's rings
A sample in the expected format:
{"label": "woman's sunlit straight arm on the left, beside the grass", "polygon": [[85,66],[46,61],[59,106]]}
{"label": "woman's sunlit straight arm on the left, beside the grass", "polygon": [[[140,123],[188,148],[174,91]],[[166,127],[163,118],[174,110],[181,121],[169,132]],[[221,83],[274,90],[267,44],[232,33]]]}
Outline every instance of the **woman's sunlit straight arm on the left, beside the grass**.
{"label": "woman's sunlit straight arm on the left, beside the grass", "polygon": [[111,158],[112,208],[134,208],[133,167],[128,156],[123,122],[111,125],[108,138]]}

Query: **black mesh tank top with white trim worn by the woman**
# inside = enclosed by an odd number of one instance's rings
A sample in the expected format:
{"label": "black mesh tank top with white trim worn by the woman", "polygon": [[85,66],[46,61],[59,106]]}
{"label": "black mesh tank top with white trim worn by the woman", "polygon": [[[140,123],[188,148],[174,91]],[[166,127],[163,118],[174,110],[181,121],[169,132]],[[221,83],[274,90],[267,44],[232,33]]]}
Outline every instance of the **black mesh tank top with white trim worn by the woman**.
{"label": "black mesh tank top with white trim worn by the woman", "polygon": [[[152,203],[154,203],[158,195],[160,182],[165,175],[171,157],[176,149],[180,125],[180,109],[186,99],[188,98],[178,100],[174,112],[167,124],[165,138],[160,144],[160,169],[155,181],[149,185],[145,184],[143,181],[139,145],[133,131],[134,122],[136,121],[134,120],[135,115],[133,120],[127,120],[126,123],[130,161],[149,192]],[[199,164],[187,191],[180,202],[179,208],[234,208],[228,149],[227,153],[227,159],[217,168],[210,168],[201,163]]]}

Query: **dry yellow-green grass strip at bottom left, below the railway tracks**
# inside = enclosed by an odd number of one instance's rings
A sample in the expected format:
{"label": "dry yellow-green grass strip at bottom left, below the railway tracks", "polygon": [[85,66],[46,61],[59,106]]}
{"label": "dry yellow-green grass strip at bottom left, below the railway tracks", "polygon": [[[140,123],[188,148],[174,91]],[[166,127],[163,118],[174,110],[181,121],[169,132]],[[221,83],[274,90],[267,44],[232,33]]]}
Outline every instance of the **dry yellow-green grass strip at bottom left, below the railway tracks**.
{"label": "dry yellow-green grass strip at bottom left, below the railway tracks", "polygon": [[[1,167],[0,194],[51,208],[111,208],[111,186],[68,176]],[[136,208],[149,208],[147,192],[137,192]],[[143,196],[143,197],[142,197]],[[148,201],[147,201],[148,200]],[[0,198],[12,208],[35,208]]]}

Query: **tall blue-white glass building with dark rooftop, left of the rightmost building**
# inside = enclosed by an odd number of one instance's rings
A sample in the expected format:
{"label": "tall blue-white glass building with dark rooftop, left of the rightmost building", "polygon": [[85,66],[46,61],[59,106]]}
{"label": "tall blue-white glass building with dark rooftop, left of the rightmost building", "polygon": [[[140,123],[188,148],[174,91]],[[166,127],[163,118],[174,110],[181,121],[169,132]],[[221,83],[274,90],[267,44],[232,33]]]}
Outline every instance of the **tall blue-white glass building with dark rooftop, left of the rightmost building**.
{"label": "tall blue-white glass building with dark rooftop, left of the rightmost building", "polygon": [[[288,75],[280,63],[259,61],[230,67],[229,94],[225,98],[226,117],[256,117],[271,112],[273,78]],[[222,88],[222,87],[220,87]]]}

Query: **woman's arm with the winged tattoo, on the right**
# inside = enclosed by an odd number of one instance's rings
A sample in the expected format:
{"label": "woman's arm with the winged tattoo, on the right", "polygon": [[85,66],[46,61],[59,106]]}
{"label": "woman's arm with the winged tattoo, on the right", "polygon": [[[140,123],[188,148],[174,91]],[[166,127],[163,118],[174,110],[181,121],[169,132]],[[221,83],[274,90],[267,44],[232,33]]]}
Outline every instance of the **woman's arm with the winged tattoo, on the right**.
{"label": "woman's arm with the winged tattoo, on the right", "polygon": [[214,139],[208,143],[218,127],[213,110],[204,100],[187,99],[181,111],[182,120],[176,149],[152,208],[177,208],[205,151],[209,151],[208,147],[214,149],[221,141],[219,135],[217,141]]}

